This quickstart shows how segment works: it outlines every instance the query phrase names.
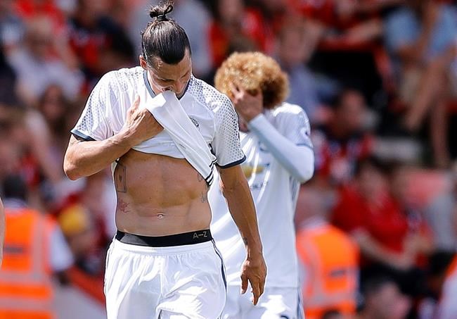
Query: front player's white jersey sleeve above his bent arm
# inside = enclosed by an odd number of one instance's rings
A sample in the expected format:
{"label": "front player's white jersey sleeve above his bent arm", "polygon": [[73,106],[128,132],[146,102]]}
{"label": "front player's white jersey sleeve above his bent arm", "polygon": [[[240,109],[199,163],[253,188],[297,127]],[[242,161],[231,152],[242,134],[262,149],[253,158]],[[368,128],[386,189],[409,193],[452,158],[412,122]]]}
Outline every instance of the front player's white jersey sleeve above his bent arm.
{"label": "front player's white jersey sleeve above his bent arm", "polygon": [[110,114],[117,106],[117,85],[113,73],[103,75],[87,99],[86,106],[75,127],[71,130],[88,141],[101,141],[113,135]]}

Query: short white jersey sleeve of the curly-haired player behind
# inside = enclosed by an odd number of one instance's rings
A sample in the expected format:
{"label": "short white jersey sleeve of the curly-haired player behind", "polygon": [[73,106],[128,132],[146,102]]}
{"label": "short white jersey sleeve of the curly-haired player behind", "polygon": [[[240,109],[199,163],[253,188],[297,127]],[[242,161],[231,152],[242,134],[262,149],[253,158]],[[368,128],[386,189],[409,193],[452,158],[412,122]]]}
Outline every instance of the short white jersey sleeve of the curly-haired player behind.
{"label": "short white jersey sleeve of the curly-haired player behind", "polygon": [[[292,105],[290,105],[292,108]],[[295,106],[291,111],[281,114],[282,127],[285,127],[283,135],[299,146],[308,146],[313,149],[311,142],[311,125],[306,113],[300,106]]]}

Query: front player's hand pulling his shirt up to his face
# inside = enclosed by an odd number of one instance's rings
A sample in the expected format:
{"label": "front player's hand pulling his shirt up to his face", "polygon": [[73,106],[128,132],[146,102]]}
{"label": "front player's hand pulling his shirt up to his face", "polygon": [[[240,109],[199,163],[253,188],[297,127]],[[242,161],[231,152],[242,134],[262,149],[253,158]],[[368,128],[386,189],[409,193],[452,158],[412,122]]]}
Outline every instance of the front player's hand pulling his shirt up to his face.
{"label": "front player's hand pulling his shirt up to his face", "polygon": [[139,108],[140,97],[136,96],[134,104],[127,111],[124,130],[131,145],[140,144],[146,139],[154,137],[162,132],[163,127],[146,108]]}

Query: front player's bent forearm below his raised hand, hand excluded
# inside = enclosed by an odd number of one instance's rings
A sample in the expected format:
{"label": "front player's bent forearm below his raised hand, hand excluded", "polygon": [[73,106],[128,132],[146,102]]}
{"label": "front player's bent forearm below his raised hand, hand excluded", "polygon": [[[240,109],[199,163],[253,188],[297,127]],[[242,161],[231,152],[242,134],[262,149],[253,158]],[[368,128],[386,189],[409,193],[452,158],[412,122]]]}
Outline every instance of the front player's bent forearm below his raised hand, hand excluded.
{"label": "front player's bent forearm below his raised hand, hand excluded", "polygon": [[70,180],[90,176],[106,168],[131,149],[124,133],[103,141],[79,141],[72,137],[65,154],[63,169]]}

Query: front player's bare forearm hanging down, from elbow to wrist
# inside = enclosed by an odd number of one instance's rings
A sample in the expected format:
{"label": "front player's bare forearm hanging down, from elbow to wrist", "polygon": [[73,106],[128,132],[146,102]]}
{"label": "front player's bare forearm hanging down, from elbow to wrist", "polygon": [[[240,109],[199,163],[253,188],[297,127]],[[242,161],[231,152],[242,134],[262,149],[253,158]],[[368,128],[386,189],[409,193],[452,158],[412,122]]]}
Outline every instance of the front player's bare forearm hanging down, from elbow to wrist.
{"label": "front player's bare forearm hanging down, from elbow to wrist", "polygon": [[235,184],[222,185],[221,190],[227,200],[228,210],[245,243],[248,258],[251,254],[262,254],[257,215],[247,181],[239,178]]}

